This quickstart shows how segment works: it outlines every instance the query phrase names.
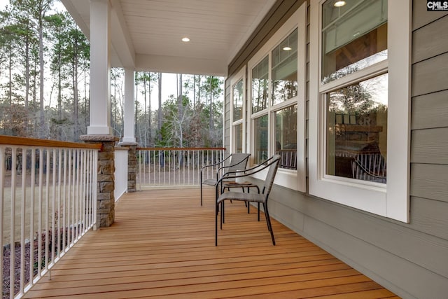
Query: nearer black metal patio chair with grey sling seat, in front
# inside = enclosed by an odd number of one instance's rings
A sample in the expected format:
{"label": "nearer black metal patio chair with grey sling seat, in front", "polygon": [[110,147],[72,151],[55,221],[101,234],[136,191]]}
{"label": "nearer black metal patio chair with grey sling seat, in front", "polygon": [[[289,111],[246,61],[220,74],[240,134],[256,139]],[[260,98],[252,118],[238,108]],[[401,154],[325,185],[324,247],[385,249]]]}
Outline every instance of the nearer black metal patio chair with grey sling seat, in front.
{"label": "nearer black metal patio chair with grey sling seat, in front", "polygon": [[[272,225],[271,220],[269,218],[269,211],[267,209],[267,200],[269,197],[269,193],[272,189],[272,184],[274,183],[275,175],[277,172],[277,169],[279,168],[279,162],[281,160],[280,155],[274,155],[272,158],[269,158],[265,163],[262,165],[258,165],[257,167],[253,167],[252,169],[247,169],[245,172],[239,172],[235,175],[227,175],[221,179],[218,180],[216,183],[216,219],[215,219],[215,246],[218,246],[218,212],[219,207],[221,205],[221,229],[223,228],[223,221],[224,221],[224,202],[225,200],[237,200],[237,201],[243,201],[243,202],[257,202],[258,203],[258,212],[260,212],[260,203],[263,205],[263,209],[265,210],[265,218],[267,223],[267,229],[271,233],[272,238],[272,244],[275,245],[275,239],[274,239],[274,232],[272,231]],[[267,170],[267,175],[265,178],[265,183],[263,184],[262,192],[261,193],[241,193],[241,192],[225,192],[219,194],[220,183],[224,179],[237,179],[244,176],[250,176],[252,174],[255,174],[257,172],[261,172],[264,169]]]}

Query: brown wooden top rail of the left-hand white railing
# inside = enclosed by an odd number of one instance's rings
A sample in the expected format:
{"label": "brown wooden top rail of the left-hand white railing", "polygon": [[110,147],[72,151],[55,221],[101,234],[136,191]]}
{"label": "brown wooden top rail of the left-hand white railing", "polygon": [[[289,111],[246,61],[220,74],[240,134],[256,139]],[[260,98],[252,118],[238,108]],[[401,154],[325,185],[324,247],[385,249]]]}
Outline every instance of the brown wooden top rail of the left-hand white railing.
{"label": "brown wooden top rail of the left-hand white railing", "polygon": [[97,150],[100,150],[102,148],[102,144],[80,144],[68,141],[35,139],[5,135],[0,135],[0,144],[12,146],[45,146],[52,148],[92,148]]}

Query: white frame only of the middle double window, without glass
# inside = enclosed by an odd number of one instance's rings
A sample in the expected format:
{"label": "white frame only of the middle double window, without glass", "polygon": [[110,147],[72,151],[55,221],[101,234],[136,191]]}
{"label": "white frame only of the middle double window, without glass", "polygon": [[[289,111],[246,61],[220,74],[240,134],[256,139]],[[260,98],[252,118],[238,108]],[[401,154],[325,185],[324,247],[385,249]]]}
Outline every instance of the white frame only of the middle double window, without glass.
{"label": "white frame only of the middle double window, without glass", "polygon": [[[272,106],[272,50],[283,41],[294,29],[297,28],[297,96],[293,99],[288,99],[285,102],[276,104]],[[298,190],[301,192],[306,192],[306,73],[307,73],[307,4],[304,3],[300,8],[291,15],[291,17],[283,24],[283,26],[272,36],[267,43],[256,53],[251,60],[248,62],[248,97],[247,109],[249,111],[249,117],[247,122],[247,130],[251,132],[251,140],[248,142],[248,152],[254,155],[254,136],[253,132],[253,121],[255,118],[266,115],[268,116],[268,152],[269,156],[275,151],[274,137],[272,136],[274,132],[274,112],[279,111],[286,106],[293,106],[297,104],[297,170],[291,169],[281,169],[277,171],[274,183],[286,188],[293,190]],[[252,113],[252,69],[255,67],[263,58],[269,55],[269,84],[268,84],[268,108],[259,111],[257,113]],[[265,178],[264,172],[259,172],[255,174],[254,177],[257,179]]]}

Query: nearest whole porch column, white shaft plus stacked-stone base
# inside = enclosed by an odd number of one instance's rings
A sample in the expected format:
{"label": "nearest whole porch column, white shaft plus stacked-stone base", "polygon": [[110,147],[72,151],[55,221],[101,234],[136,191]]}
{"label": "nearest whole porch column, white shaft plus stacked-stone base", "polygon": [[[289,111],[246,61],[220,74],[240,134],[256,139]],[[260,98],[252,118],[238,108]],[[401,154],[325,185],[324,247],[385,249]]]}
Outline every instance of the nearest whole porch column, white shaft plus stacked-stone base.
{"label": "nearest whole porch column, white shaft plus stacked-stone base", "polygon": [[111,127],[111,59],[109,0],[90,0],[90,125],[87,143],[101,143],[97,174],[97,227],[115,220],[115,146]]}

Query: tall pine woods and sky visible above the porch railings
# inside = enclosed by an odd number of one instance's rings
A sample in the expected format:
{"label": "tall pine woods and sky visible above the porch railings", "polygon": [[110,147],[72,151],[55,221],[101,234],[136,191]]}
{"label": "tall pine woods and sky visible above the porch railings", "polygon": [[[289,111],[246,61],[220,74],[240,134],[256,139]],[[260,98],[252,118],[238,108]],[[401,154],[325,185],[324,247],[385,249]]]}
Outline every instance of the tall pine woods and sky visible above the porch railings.
{"label": "tall pine woods and sky visible above the porch railings", "polygon": [[[55,0],[11,0],[0,11],[0,134],[78,141],[89,125],[90,44]],[[59,7],[59,6],[58,6]],[[223,79],[135,75],[139,146],[222,146]],[[157,98],[158,105],[155,106]],[[111,70],[111,127],[123,137],[124,71]]]}

